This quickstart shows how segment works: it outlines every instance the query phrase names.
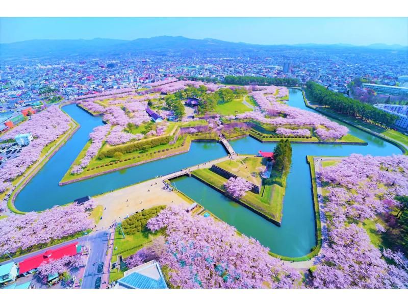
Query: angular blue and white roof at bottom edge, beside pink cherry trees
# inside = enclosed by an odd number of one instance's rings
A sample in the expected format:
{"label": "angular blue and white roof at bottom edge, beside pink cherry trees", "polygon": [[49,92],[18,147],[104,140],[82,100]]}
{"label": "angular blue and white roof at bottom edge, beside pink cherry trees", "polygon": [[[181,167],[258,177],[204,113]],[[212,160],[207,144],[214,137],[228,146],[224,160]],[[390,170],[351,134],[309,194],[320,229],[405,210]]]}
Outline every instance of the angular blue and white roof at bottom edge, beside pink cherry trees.
{"label": "angular blue and white roof at bottom edge, beside pink cherry trees", "polygon": [[159,263],[153,260],[125,271],[124,276],[118,279],[115,288],[167,289],[167,284]]}

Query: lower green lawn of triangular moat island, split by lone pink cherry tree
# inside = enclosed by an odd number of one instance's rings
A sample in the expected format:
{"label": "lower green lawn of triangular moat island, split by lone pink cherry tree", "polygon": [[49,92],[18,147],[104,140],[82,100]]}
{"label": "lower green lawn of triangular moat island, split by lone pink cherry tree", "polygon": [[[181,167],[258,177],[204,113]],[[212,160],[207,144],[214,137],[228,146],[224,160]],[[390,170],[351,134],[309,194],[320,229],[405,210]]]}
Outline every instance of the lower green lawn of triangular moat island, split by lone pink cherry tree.
{"label": "lower green lawn of triangular moat island, split by lone pink cherry tree", "polygon": [[[219,189],[221,192],[223,190],[223,185],[227,181],[224,177],[216,174],[208,168],[193,171],[193,176],[206,181],[215,188]],[[262,214],[280,222],[283,208],[283,194],[285,193],[285,189],[279,188],[276,185],[263,185],[261,188],[261,194],[246,192],[246,194],[240,198],[240,201],[254,210],[257,210]],[[276,191],[281,193],[275,194]]]}

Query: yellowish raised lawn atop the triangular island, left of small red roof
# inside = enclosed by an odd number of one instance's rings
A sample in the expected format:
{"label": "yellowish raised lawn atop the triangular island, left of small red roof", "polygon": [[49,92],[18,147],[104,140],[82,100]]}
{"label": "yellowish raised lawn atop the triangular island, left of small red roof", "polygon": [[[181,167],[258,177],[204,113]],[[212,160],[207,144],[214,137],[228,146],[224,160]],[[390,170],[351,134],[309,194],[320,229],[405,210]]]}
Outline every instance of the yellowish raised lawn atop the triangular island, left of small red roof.
{"label": "yellowish raised lawn atop the triangular island, left of small red roof", "polygon": [[254,185],[261,185],[261,172],[265,170],[266,160],[259,157],[245,157],[242,160],[227,160],[217,163],[217,166]]}

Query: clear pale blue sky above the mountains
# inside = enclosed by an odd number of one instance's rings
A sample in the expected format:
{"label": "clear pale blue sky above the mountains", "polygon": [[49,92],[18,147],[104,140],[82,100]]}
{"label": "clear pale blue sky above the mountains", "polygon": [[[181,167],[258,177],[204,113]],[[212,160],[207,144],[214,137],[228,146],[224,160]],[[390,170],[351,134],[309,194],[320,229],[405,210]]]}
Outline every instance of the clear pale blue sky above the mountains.
{"label": "clear pale blue sky above the mountains", "polygon": [[96,37],[132,40],[161,35],[215,38],[257,44],[408,45],[408,18],[0,18],[1,43],[30,39]]}

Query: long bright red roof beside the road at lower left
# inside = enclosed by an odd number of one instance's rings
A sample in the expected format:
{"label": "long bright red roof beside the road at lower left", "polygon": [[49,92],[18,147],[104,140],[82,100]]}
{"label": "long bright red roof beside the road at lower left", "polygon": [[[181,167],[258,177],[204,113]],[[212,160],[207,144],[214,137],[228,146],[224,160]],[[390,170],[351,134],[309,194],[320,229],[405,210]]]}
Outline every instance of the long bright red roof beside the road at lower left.
{"label": "long bright red roof beside the road at lower left", "polygon": [[49,260],[59,260],[64,256],[73,256],[77,254],[77,244],[78,242],[74,242],[57,249],[46,250],[39,255],[20,262],[19,274],[38,268],[43,262],[48,262]]}

